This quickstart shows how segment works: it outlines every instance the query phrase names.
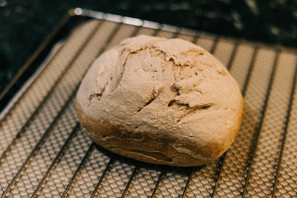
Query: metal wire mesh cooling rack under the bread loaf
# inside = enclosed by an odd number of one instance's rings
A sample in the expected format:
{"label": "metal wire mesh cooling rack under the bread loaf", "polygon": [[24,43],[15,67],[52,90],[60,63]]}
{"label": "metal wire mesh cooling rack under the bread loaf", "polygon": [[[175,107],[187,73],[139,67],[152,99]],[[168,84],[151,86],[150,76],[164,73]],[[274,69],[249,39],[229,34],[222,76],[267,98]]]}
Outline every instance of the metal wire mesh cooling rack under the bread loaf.
{"label": "metal wire mesh cooling rack under the bread loaf", "polygon": [[[76,28],[2,119],[1,197],[297,197],[296,52],[109,18],[116,20]],[[238,81],[242,124],[213,163],[146,164],[97,147],[81,130],[74,96],[84,73],[104,50],[137,34],[195,42]]]}

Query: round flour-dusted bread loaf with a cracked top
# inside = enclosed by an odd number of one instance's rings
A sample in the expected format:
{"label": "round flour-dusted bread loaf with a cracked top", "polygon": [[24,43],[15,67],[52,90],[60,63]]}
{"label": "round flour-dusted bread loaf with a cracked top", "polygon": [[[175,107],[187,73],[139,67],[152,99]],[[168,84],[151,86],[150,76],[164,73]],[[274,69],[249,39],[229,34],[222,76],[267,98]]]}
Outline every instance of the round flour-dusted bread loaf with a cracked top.
{"label": "round flour-dusted bread loaf with a cracked top", "polygon": [[196,166],[228,149],[243,99],[228,70],[203,48],[141,35],[94,62],[78,90],[76,110],[89,137],[114,153]]}

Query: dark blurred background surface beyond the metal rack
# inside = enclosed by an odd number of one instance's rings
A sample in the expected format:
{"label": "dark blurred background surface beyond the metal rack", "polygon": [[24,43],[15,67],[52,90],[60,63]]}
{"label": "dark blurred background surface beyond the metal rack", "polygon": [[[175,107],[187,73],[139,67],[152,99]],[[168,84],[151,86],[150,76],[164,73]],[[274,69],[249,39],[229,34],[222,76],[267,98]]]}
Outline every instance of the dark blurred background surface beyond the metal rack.
{"label": "dark blurred background surface beyond the metal rack", "polygon": [[0,93],[75,7],[297,47],[294,0],[0,0]]}

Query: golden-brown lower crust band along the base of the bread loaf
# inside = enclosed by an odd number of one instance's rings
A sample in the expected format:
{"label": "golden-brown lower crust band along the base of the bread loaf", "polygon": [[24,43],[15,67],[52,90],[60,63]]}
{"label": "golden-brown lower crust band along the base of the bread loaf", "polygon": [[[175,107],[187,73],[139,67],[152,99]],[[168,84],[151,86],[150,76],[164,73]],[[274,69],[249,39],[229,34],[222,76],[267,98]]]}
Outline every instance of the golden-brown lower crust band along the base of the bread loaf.
{"label": "golden-brown lower crust band along the base of the bread loaf", "polygon": [[[186,152],[180,153],[176,151],[176,149],[170,145],[171,142],[168,142],[169,139],[166,139],[167,143],[165,143],[160,137],[156,139],[145,137],[144,134],[146,133],[144,132],[141,136],[137,134],[132,135],[129,131],[124,131],[121,126],[114,126],[108,122],[98,124],[93,117],[84,114],[80,104],[77,102],[75,104],[78,118],[85,132],[94,142],[103,148],[139,161],[184,167],[199,166],[217,159],[222,152],[226,150],[226,142],[227,148],[233,142],[240,126],[242,113],[241,110],[238,124],[233,131],[230,131],[226,140],[214,140],[208,142],[208,144],[204,144],[202,148],[196,152],[196,156],[201,156],[201,158],[199,158],[188,155]],[[241,107],[243,108],[243,102],[241,103]],[[170,140],[176,141],[176,138],[171,137]],[[196,142],[191,142],[191,140],[184,142],[187,142],[187,144],[184,145],[184,149],[194,150],[198,147],[198,145],[195,144]]]}

